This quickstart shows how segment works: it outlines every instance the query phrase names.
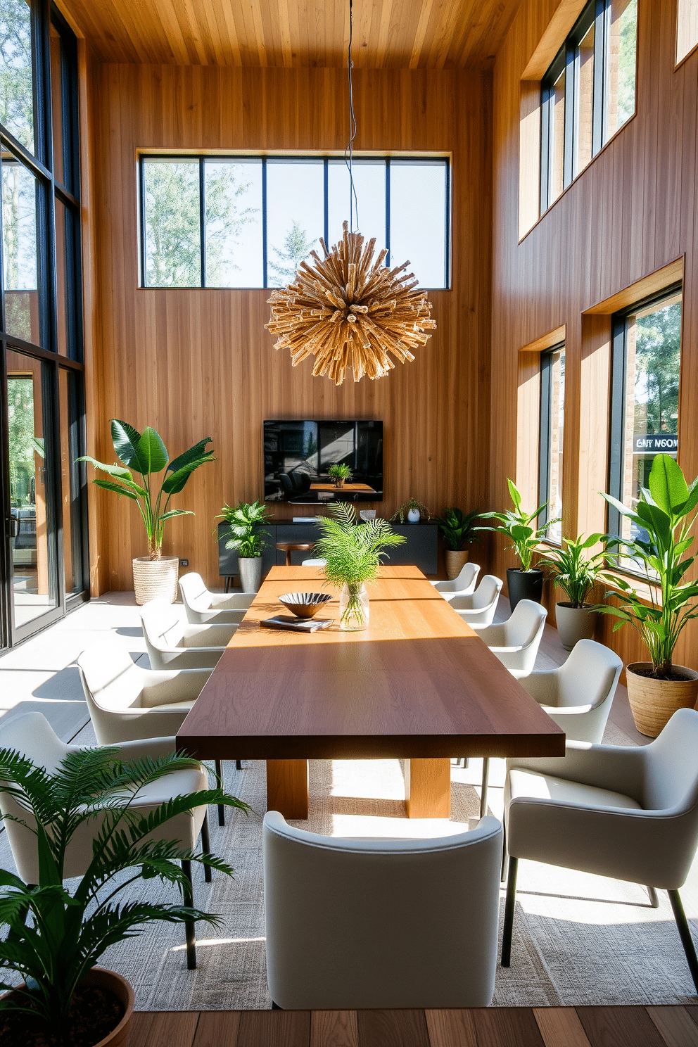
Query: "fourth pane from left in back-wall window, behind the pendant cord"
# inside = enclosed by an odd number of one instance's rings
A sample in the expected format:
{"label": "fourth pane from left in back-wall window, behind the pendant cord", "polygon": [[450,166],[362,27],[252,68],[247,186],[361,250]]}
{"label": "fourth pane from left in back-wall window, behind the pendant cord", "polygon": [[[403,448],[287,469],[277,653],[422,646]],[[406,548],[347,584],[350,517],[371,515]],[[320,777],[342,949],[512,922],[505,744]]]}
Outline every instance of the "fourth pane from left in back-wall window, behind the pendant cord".
{"label": "fourth pane from left in back-wall window, behind the pendant cord", "polygon": [[[376,250],[385,247],[385,160],[354,160],[352,177],[356,200],[354,228],[366,240],[376,237]],[[330,244],[342,238],[342,222],[350,218],[350,177],[344,160],[328,164]]]}

